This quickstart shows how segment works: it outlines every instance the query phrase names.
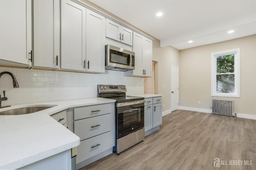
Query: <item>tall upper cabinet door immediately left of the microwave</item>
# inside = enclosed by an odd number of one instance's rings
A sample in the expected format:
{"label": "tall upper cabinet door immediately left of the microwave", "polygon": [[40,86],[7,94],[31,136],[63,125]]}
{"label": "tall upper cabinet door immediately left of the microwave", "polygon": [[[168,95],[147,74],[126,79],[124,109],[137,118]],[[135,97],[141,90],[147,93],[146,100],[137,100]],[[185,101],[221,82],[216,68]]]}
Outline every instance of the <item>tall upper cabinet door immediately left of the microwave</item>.
{"label": "tall upper cabinet door immediately left of the microwave", "polygon": [[86,11],[86,70],[105,72],[105,17]]}

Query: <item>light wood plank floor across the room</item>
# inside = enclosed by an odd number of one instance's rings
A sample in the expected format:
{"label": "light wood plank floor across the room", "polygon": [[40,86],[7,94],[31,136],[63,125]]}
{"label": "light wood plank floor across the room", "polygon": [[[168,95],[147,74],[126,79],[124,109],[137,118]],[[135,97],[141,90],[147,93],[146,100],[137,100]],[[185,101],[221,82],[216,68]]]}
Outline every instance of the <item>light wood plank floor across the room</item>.
{"label": "light wood plank floor across the room", "polygon": [[[256,170],[256,120],[185,110],[162,120],[143,142],[81,170]],[[214,167],[216,157],[227,165]],[[229,165],[233,160],[242,165]]]}

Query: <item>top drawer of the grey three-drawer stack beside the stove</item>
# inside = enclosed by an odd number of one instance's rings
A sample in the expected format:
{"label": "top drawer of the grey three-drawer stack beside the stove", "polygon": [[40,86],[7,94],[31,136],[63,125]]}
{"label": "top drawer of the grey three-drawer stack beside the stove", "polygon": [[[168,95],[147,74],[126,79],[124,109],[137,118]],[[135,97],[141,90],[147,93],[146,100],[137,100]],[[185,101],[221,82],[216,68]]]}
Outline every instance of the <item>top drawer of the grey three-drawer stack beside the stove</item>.
{"label": "top drawer of the grey three-drawer stack beside the stove", "polygon": [[74,120],[111,113],[111,104],[74,108]]}

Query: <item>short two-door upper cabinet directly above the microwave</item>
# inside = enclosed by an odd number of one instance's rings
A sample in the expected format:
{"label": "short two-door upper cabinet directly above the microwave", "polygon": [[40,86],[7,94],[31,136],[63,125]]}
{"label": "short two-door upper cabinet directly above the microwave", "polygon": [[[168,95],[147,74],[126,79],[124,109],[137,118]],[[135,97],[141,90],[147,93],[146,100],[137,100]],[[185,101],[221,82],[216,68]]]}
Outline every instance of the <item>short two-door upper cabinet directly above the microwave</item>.
{"label": "short two-door upper cabinet directly above the microwave", "polygon": [[106,37],[132,46],[132,33],[132,30],[106,19]]}

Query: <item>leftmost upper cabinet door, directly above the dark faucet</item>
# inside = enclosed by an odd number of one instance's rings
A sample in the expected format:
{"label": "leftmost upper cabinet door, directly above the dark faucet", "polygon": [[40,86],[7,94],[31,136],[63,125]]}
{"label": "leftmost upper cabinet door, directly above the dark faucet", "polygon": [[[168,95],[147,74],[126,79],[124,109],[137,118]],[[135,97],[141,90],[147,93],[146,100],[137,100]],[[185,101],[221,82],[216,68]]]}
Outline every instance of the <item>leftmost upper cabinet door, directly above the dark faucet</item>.
{"label": "leftmost upper cabinet door, directly above the dark faucet", "polygon": [[0,60],[32,64],[31,5],[31,0],[0,0]]}

